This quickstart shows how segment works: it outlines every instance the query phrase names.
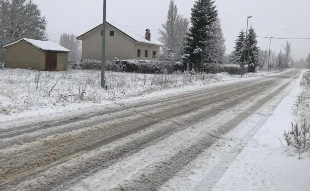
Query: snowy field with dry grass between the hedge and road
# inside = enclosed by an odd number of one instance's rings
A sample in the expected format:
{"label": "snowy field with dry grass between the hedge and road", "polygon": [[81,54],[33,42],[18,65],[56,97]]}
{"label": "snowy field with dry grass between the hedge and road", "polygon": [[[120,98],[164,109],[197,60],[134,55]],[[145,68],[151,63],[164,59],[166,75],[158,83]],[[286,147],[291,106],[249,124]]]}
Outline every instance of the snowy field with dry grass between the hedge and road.
{"label": "snowy field with dry grass between the hedge and road", "polygon": [[63,72],[28,69],[0,70],[0,114],[29,109],[101,103],[138,96],[155,90],[205,85],[229,78],[228,74],[138,74],[106,72],[108,90],[100,88],[100,71]]}

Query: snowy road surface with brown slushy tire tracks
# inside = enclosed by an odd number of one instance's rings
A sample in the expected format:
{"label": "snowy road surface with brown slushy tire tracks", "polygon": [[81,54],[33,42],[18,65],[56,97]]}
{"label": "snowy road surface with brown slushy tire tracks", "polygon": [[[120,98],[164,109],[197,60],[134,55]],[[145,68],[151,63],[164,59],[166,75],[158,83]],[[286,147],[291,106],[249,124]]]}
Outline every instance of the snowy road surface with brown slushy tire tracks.
{"label": "snowy road surface with brown slushy tire tracks", "polygon": [[179,181],[186,191],[212,190],[300,75],[293,69],[1,128],[0,190],[179,191]]}

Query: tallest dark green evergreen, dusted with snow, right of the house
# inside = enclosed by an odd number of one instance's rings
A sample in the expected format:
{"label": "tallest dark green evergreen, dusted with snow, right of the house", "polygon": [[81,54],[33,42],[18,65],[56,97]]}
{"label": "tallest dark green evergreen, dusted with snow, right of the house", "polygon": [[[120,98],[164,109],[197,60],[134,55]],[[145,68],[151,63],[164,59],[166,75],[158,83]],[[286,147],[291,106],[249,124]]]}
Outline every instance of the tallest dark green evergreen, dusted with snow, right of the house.
{"label": "tallest dark green evergreen, dusted with snow, right of the house", "polygon": [[192,8],[191,24],[188,36],[184,43],[184,62],[197,67],[197,63],[201,63],[203,59],[211,58],[206,53],[208,45],[212,44],[211,27],[216,22],[218,11],[213,0],[196,0]]}

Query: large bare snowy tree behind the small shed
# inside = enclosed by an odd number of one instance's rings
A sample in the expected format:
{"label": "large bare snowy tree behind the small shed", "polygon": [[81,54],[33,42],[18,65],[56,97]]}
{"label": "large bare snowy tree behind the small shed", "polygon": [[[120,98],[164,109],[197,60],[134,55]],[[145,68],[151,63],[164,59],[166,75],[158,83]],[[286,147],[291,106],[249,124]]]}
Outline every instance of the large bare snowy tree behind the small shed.
{"label": "large bare snowy tree behind the small shed", "polygon": [[[32,0],[0,0],[0,47],[22,38],[47,40],[46,18]],[[0,48],[0,62],[4,50]]]}

